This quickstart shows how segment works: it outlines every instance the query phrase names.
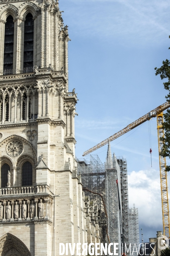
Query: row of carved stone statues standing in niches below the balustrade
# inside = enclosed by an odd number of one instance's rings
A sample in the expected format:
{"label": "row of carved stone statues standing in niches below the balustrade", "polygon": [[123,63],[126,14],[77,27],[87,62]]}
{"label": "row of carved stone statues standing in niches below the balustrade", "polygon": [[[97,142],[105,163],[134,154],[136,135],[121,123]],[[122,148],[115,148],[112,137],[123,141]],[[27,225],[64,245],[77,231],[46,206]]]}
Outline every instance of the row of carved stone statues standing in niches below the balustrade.
{"label": "row of carved stone statues standing in niches below the balustrade", "polygon": [[[4,213],[4,207],[5,213]],[[20,208],[21,207],[21,208]],[[23,203],[18,204],[18,201],[14,202],[14,207],[11,206],[10,202],[7,202],[7,205],[3,206],[2,202],[0,202],[0,220],[6,217],[6,220],[10,220],[14,214],[14,219],[18,219],[19,217],[22,219],[26,219],[29,217],[31,220],[35,218],[35,202],[34,200],[31,201],[29,207],[26,205],[26,201],[24,200]],[[37,204],[38,207],[38,217],[43,218],[43,212],[44,212],[44,204],[42,202],[42,199],[40,199],[40,202]],[[13,209],[13,214],[12,214]],[[28,212],[28,216],[27,216]],[[21,216],[19,216],[21,215]]]}

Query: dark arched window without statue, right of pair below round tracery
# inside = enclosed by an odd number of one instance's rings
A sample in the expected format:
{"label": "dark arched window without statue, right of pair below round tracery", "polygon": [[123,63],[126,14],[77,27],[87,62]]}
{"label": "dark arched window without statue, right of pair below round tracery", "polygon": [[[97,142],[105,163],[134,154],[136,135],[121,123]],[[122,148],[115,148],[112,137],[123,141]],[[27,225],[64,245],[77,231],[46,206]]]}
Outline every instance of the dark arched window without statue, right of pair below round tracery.
{"label": "dark arched window without statue, right of pair below round tracery", "polygon": [[25,162],[22,167],[22,186],[32,186],[32,164]]}

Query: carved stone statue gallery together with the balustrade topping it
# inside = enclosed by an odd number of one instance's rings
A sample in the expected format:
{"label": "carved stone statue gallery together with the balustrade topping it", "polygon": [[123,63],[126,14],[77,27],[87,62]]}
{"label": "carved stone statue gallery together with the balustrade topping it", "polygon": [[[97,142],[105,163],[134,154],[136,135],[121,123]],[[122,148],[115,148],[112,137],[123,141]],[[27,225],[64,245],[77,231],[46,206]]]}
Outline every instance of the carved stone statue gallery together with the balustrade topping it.
{"label": "carved stone statue gallery together with the balustrade topping it", "polygon": [[0,222],[52,220],[53,197],[47,194],[47,190],[49,191],[47,185],[0,189],[3,193],[0,194],[0,215],[3,214]]}

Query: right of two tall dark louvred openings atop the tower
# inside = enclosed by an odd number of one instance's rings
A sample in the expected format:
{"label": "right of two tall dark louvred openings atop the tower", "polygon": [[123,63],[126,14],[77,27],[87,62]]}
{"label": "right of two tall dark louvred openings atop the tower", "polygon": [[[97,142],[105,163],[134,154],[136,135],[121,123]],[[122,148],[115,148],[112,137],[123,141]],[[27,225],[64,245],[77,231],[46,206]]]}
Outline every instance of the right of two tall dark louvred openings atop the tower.
{"label": "right of two tall dark louvred openings atop the tower", "polygon": [[23,72],[33,71],[33,49],[34,49],[34,21],[32,14],[26,15],[24,22],[24,53],[23,53]]}

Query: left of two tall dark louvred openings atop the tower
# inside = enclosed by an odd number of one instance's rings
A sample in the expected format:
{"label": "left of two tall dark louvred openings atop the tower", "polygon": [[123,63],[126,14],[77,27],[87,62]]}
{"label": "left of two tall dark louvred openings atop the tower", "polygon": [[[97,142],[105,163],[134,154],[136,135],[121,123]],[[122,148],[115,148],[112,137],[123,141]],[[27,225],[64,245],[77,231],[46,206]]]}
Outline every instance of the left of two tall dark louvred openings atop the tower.
{"label": "left of two tall dark louvred openings atop the tower", "polygon": [[4,38],[3,74],[13,74],[14,22],[11,15],[6,19]]}

